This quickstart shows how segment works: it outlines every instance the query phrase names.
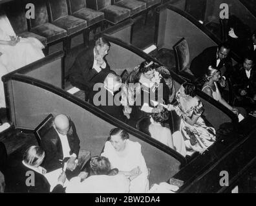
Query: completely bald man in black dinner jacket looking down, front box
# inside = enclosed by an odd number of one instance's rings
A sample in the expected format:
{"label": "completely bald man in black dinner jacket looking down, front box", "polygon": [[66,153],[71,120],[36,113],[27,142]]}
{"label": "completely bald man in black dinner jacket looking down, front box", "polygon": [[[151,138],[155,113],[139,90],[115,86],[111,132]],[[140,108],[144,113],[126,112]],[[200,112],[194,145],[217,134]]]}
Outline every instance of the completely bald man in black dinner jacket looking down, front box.
{"label": "completely bald man in black dinner jacket looking down, front box", "polygon": [[41,140],[45,150],[43,165],[47,172],[63,166],[67,162],[67,170],[74,171],[78,163],[80,140],[74,123],[67,115],[57,115],[53,126]]}

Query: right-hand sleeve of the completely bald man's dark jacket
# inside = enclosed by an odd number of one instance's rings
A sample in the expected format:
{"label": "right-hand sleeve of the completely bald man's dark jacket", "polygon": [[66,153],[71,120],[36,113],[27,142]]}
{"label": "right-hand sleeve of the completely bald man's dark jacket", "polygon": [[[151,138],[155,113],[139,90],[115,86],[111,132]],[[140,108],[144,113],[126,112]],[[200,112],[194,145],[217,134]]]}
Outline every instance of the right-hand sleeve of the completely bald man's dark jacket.
{"label": "right-hand sleeve of the completely bald man's dark jacket", "polygon": [[78,137],[78,134],[76,133],[76,126],[74,125],[74,122],[70,121],[71,129],[68,133],[68,136],[70,138],[70,153],[75,153],[76,156],[78,156],[78,153],[80,151],[80,139]]}

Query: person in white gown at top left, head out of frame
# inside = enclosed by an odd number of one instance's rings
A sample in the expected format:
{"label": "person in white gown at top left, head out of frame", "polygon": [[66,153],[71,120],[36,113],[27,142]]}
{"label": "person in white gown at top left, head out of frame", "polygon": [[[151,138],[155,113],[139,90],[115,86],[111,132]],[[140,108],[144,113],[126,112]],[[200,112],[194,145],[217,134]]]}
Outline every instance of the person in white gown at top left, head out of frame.
{"label": "person in white gown at top left, head out of frame", "polygon": [[43,48],[43,44],[34,37],[17,37],[9,19],[0,14],[0,64],[8,72],[45,57]]}

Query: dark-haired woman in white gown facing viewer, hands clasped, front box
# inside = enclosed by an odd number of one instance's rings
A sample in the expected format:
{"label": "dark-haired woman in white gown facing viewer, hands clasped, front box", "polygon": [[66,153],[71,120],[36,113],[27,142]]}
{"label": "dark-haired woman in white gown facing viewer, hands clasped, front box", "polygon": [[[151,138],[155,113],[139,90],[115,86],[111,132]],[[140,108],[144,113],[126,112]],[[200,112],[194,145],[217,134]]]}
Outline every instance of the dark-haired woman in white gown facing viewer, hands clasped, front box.
{"label": "dark-haired woman in white gown facing viewer, hands clasped, front box", "polygon": [[142,155],[141,145],[129,140],[129,134],[122,129],[114,128],[110,132],[110,140],[106,142],[101,156],[131,180],[130,192],[144,193],[149,190],[147,165]]}

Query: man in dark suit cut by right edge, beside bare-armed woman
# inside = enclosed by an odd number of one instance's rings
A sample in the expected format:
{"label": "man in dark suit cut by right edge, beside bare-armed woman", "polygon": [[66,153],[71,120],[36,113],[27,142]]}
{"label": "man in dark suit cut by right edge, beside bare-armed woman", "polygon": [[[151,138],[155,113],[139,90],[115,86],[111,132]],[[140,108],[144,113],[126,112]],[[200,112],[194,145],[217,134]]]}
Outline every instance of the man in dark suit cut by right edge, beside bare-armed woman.
{"label": "man in dark suit cut by right edge, beside bare-armed woman", "polygon": [[244,57],[244,63],[234,75],[234,89],[237,97],[237,106],[246,108],[248,112],[255,110],[256,103],[256,71],[253,55]]}

